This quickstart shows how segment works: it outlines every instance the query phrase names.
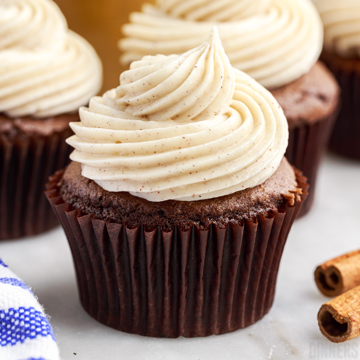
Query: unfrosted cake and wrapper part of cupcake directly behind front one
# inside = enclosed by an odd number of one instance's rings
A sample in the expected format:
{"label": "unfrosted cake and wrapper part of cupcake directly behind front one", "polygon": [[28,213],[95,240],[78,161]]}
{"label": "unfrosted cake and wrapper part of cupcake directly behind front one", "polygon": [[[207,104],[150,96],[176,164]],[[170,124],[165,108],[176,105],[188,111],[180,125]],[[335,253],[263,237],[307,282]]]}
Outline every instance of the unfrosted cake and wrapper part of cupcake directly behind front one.
{"label": "unfrosted cake and wrapper part of cupcake directly behind front one", "polygon": [[328,146],[339,109],[339,88],[334,76],[317,62],[299,79],[271,93],[284,110],[289,124],[286,158],[306,174],[309,196],[300,215],[314,202],[315,185],[321,159]]}

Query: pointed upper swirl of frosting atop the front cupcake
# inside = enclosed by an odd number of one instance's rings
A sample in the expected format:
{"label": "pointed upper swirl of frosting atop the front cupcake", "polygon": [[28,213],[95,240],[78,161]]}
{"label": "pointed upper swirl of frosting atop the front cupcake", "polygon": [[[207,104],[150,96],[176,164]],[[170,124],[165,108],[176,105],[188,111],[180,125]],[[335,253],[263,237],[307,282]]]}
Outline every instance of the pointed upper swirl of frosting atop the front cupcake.
{"label": "pointed upper swirl of frosting atop the front cupcake", "polygon": [[116,95],[126,112],[152,121],[199,121],[228,111],[235,75],[214,26],[203,44],[184,54],[133,62],[120,84]]}

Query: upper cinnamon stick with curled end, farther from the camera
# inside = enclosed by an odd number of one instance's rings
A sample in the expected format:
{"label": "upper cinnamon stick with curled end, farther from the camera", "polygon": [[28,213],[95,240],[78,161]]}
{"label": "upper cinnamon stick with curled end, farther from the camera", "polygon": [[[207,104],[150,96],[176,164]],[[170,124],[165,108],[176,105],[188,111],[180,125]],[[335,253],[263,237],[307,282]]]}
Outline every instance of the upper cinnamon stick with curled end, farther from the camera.
{"label": "upper cinnamon stick with curled end, farther from the camera", "polygon": [[314,275],[319,290],[331,297],[360,285],[360,250],[319,265]]}

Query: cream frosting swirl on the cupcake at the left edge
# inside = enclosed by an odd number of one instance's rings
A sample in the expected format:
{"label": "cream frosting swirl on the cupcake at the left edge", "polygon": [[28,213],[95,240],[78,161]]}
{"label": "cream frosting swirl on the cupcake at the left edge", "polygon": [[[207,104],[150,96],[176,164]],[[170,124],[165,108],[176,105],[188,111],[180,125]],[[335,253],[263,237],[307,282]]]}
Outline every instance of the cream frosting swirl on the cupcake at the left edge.
{"label": "cream frosting swirl on the cupcake at the left edge", "polygon": [[50,117],[74,112],[101,85],[98,55],[68,30],[53,1],[0,1],[0,113]]}

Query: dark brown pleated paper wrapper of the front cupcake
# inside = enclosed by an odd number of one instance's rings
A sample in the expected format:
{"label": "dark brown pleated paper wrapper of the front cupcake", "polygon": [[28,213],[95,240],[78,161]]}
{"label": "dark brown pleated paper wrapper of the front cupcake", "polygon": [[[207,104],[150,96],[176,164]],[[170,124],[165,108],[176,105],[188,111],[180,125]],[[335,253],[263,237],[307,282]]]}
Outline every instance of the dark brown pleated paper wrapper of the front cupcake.
{"label": "dark brown pleated paper wrapper of the front cupcake", "polygon": [[101,323],[155,337],[195,337],[244,328],[273,303],[291,225],[307,196],[257,222],[181,231],[129,229],[64,203],[50,178],[45,193],[66,232],[85,310]]}

